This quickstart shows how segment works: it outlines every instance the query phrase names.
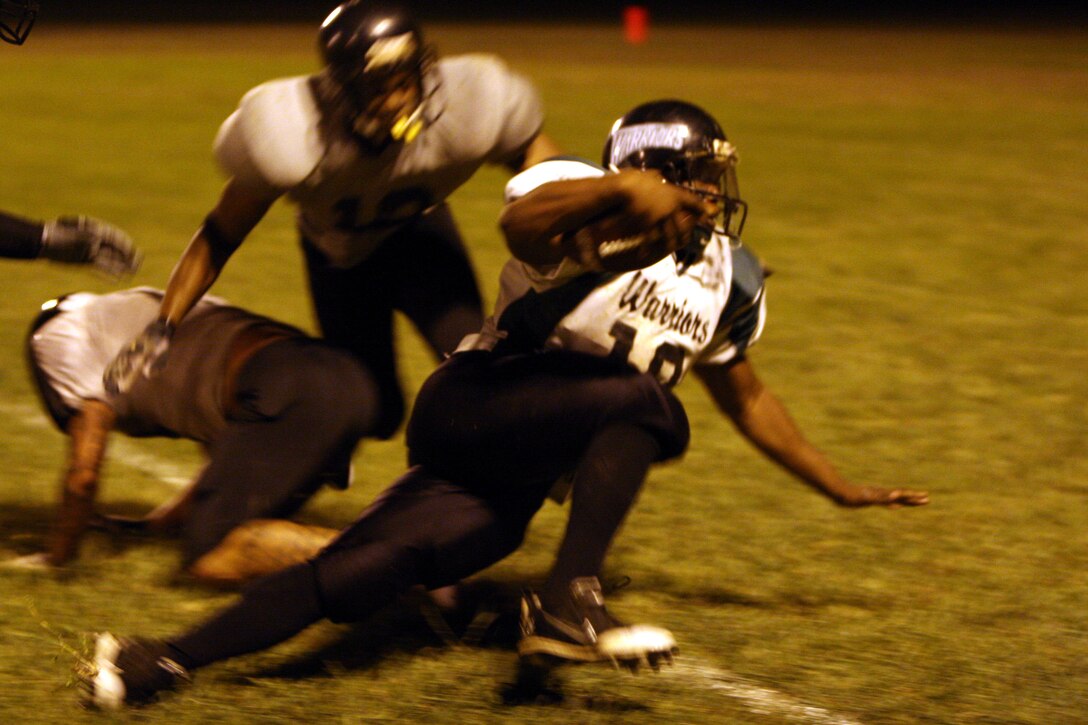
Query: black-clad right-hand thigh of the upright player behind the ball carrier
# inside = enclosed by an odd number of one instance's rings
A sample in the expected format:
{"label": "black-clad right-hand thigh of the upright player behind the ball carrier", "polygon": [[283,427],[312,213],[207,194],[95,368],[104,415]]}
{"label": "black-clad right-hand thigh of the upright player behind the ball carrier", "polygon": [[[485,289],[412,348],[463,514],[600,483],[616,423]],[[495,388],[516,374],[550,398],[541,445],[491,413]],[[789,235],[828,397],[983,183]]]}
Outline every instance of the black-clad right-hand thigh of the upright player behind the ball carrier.
{"label": "black-clad right-hand thigh of the upright player behind the ball carrier", "polygon": [[395,305],[438,357],[483,325],[475,274],[449,206],[442,204],[386,243]]}

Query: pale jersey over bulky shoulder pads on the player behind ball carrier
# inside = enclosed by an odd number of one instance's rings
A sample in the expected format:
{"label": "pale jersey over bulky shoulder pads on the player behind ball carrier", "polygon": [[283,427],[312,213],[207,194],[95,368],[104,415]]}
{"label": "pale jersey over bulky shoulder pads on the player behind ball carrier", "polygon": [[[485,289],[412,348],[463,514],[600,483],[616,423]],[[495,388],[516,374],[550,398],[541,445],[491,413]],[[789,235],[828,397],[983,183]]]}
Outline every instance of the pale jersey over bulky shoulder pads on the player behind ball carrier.
{"label": "pale jersey over bulky shoulder pads on the player behind ball carrier", "polygon": [[499,59],[443,58],[424,78],[429,123],[419,136],[369,155],[346,123],[322,118],[312,81],[271,81],[246,94],[220,127],[215,156],[255,193],[288,195],[301,232],[337,267],[366,259],[482,164],[517,158],[544,119],[535,88]]}

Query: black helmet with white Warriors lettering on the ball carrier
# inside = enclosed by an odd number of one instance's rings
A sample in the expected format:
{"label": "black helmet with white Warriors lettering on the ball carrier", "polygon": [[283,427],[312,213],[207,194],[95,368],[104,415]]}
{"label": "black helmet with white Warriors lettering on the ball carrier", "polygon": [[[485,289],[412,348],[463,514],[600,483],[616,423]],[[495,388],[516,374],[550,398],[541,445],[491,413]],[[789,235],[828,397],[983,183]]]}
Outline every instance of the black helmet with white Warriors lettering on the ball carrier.
{"label": "black helmet with white Warriors lettering on the ball carrier", "polygon": [[740,238],[747,204],[737,186],[737,149],[697,106],[658,100],[628,111],[613,124],[602,163],[614,171],[656,169],[669,183],[717,204],[715,231]]}

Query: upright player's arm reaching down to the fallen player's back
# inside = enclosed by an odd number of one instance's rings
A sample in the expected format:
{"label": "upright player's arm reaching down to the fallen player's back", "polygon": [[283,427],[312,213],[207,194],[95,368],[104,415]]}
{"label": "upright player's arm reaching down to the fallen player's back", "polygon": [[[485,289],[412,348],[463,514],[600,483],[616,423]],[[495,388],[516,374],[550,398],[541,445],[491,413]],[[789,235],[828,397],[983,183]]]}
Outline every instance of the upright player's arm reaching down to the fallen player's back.
{"label": "upright player's arm reaching down to the fallen player's back", "polygon": [[227,182],[219,204],[174,267],[158,319],[107,366],[102,382],[111,395],[124,393],[139,377],[153,374],[165,365],[177,324],[208,292],[274,200],[254,195],[234,180]]}

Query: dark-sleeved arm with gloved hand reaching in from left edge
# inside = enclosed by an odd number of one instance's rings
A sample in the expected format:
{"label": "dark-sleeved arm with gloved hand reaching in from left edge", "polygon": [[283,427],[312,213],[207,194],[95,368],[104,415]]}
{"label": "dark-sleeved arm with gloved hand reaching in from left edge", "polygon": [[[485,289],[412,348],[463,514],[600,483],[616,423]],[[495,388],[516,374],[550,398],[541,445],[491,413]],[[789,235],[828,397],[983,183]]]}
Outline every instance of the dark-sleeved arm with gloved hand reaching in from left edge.
{"label": "dark-sleeved arm with gloved hand reaching in from left edge", "polygon": [[140,261],[128,235],[108,222],[90,217],[39,222],[2,211],[0,257],[92,265],[110,277],[132,274]]}

